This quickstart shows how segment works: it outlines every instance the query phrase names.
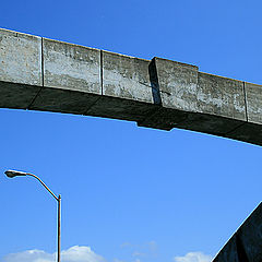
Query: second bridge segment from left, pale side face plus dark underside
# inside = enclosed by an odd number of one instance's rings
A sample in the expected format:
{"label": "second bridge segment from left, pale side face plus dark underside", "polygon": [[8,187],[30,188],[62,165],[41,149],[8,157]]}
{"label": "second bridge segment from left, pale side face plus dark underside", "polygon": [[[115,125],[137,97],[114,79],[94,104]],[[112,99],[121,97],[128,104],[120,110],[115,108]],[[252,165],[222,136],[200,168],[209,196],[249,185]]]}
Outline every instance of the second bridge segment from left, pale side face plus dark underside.
{"label": "second bridge segment from left, pale side face plus dark underside", "polygon": [[102,95],[100,51],[43,38],[43,88],[28,107],[83,115]]}

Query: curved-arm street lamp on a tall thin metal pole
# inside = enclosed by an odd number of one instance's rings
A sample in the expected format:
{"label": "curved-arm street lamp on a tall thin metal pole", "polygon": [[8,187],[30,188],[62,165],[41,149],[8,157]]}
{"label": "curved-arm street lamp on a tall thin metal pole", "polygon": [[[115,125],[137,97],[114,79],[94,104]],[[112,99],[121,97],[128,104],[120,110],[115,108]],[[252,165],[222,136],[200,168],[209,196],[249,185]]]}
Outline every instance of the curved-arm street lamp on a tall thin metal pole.
{"label": "curved-arm street lamp on a tall thin metal pole", "polygon": [[35,175],[29,172],[23,172],[23,171],[16,171],[16,170],[7,170],[4,172],[9,178],[14,177],[24,177],[24,176],[31,176],[36,178],[44,188],[57,200],[58,202],[58,262],[60,262],[60,253],[61,253],[61,195],[59,194],[56,196],[56,194],[52,193],[52,191]]}

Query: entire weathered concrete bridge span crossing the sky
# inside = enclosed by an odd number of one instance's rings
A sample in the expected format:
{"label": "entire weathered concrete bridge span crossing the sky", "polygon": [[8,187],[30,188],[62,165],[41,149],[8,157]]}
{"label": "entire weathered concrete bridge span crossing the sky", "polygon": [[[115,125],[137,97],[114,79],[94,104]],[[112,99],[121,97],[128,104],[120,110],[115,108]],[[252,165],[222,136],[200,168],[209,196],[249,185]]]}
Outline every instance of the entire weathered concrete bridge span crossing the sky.
{"label": "entire weathered concrete bridge span crossing the sky", "polygon": [[0,29],[0,107],[135,121],[262,145],[262,86]]}

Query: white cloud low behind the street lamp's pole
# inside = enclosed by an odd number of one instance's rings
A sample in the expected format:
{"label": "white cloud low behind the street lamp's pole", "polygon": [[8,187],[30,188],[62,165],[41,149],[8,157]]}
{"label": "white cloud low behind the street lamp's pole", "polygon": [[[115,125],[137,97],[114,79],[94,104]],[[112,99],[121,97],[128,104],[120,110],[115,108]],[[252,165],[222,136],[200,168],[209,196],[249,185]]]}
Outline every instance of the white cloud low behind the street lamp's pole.
{"label": "white cloud low behind the street lamp's pole", "polygon": [[[5,255],[0,262],[53,262],[56,253],[43,250],[27,250]],[[74,246],[61,252],[62,262],[104,262],[104,258],[96,254],[90,247]]]}

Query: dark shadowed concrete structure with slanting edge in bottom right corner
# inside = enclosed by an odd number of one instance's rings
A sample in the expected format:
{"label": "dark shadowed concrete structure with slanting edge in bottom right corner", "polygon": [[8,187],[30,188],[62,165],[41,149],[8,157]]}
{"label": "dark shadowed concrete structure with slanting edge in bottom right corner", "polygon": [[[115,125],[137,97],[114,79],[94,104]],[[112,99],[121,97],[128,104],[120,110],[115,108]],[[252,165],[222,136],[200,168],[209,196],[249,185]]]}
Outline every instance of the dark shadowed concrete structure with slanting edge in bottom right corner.
{"label": "dark shadowed concrete structure with slanting edge in bottom right corner", "polygon": [[262,203],[239,227],[213,262],[262,261]]}

